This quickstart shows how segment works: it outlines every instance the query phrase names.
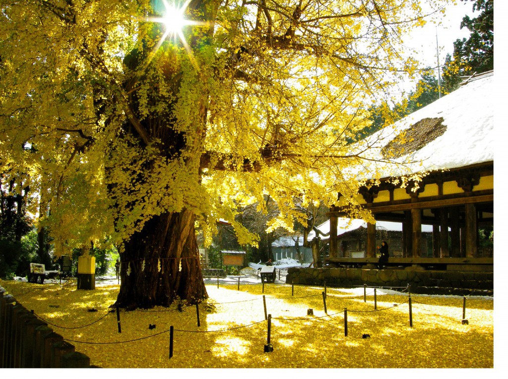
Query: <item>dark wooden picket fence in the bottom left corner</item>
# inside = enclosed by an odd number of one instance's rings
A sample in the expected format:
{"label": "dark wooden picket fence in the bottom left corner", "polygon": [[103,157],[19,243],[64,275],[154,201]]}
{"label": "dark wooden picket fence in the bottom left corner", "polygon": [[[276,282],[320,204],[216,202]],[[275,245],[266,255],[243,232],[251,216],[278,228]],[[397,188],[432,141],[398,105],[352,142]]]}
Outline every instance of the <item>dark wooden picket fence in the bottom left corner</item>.
{"label": "dark wooden picket fence in the bottom left corner", "polygon": [[76,352],[44,321],[0,287],[0,368],[87,368]]}

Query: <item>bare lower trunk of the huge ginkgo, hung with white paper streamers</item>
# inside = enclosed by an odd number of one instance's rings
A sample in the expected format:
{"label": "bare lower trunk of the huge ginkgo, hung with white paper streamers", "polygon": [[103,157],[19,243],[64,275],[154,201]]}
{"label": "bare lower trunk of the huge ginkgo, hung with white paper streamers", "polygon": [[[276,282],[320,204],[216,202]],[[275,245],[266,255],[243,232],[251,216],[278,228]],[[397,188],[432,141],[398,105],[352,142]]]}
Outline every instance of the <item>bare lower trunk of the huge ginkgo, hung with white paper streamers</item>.
{"label": "bare lower trunk of the huge ginkgo, hung with white paper streamers", "polygon": [[207,297],[194,229],[188,210],[153,217],[124,244],[117,306],[134,309],[190,303]]}

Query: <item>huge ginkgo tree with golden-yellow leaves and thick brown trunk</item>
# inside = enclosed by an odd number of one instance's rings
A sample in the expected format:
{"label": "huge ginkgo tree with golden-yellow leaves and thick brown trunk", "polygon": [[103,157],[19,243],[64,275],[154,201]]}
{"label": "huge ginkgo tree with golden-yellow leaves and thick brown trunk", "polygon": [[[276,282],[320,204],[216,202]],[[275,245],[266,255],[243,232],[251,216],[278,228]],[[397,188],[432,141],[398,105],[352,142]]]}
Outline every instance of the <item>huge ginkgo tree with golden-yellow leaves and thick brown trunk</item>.
{"label": "huge ginkgo tree with golden-yellow leaves and thick brown trunk", "polygon": [[256,244],[238,207],[270,196],[269,229],[291,230],[295,199],[340,193],[371,219],[350,144],[446,0],[419,3],[1,0],[2,172],[29,178],[56,255],[117,244],[118,306],[200,301],[195,228],[209,242],[224,218]]}

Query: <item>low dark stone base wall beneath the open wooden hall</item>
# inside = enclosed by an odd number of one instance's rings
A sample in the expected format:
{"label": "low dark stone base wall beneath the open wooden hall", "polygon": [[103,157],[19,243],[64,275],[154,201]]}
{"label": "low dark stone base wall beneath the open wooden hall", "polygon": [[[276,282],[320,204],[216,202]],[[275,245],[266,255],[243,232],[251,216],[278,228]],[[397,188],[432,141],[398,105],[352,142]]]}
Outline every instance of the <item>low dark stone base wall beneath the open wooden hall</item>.
{"label": "low dark stone base wall beneath the open wooden hall", "polygon": [[302,285],[411,286],[412,293],[441,295],[492,295],[492,272],[434,271],[360,268],[297,268],[288,269],[287,283]]}

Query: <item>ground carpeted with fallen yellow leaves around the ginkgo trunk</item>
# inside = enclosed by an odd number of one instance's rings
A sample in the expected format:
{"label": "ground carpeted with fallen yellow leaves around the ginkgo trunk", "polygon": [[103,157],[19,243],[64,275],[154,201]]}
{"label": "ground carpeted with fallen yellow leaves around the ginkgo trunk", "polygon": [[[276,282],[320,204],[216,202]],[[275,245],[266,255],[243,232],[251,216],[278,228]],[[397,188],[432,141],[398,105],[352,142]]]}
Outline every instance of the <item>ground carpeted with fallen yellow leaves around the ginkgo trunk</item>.
{"label": "ground carpeted with fallen yellow leaves around the ginkgo trunk", "polygon": [[[240,290],[236,285],[209,285],[209,299],[199,305],[199,327],[196,306],[178,309],[174,304],[120,310],[119,333],[116,312],[109,308],[118,286],[77,290],[73,280],[44,286],[0,280],[0,286],[100,367],[494,366],[494,302],[487,297],[466,299],[466,324],[462,323],[461,297],[411,294],[411,327],[407,293],[377,289],[374,299],[372,288],[367,288],[366,298],[363,288],[328,288],[325,313],[320,287],[292,289],[270,283],[263,293],[262,285],[243,285]],[[268,337],[265,303],[271,314],[273,346],[268,353],[264,352]],[[313,315],[307,314],[308,309]],[[171,326],[173,357],[169,358]]]}

